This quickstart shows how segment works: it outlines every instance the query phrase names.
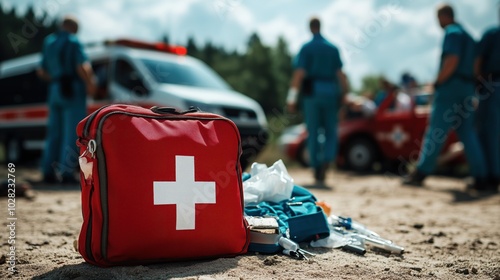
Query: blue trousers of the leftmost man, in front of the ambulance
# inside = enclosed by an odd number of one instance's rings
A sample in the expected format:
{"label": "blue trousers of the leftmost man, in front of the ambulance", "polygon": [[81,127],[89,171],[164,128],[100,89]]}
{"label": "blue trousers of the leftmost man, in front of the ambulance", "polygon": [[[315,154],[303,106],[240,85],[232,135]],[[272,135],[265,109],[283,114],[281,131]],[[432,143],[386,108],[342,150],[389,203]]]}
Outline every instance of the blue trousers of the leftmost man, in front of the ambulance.
{"label": "blue trousers of the leftmost man, in front of the ambulance", "polygon": [[87,115],[85,85],[73,82],[73,97],[62,96],[59,83],[49,84],[49,118],[45,150],[42,158],[44,178],[58,172],[63,179],[70,178],[78,166],[76,126]]}

